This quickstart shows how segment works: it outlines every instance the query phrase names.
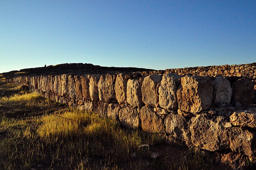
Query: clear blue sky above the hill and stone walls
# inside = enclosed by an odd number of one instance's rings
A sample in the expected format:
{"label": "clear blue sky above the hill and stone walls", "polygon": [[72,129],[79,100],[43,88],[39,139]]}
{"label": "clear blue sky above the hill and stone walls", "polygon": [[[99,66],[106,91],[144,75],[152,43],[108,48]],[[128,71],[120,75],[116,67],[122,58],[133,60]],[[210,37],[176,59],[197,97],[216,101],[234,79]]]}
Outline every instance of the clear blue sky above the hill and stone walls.
{"label": "clear blue sky above the hill and stone walls", "polygon": [[256,1],[0,0],[0,73],[256,62]]}

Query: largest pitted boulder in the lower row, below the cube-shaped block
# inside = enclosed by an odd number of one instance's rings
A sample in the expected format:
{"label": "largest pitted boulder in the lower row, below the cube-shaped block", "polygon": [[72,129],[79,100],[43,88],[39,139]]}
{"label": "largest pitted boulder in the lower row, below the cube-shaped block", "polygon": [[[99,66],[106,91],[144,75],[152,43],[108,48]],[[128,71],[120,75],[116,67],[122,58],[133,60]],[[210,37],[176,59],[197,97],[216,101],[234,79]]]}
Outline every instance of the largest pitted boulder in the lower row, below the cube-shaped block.
{"label": "largest pitted boulder in the lower row, below the cube-shaped block", "polygon": [[229,137],[223,116],[195,115],[189,126],[191,143],[208,151],[229,148]]}

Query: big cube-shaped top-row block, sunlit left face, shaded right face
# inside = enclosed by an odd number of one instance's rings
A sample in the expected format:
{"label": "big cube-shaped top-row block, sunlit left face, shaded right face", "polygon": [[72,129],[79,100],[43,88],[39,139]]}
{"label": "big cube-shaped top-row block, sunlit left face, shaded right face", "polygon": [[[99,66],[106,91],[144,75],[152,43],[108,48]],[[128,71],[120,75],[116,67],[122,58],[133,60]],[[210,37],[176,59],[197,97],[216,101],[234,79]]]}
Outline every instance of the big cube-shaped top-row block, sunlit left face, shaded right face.
{"label": "big cube-shaped top-row block, sunlit left face, shaded right face", "polygon": [[200,76],[184,76],[177,90],[180,110],[196,113],[207,110],[212,104],[212,79]]}

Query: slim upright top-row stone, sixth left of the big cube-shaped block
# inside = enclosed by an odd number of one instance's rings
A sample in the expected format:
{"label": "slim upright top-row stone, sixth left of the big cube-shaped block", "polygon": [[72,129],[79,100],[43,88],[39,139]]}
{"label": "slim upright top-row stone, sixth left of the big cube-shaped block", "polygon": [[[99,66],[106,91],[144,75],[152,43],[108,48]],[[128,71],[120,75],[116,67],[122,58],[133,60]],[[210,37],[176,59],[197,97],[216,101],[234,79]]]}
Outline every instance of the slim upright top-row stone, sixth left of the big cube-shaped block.
{"label": "slim upright top-row stone, sixth left of the big cube-shaped block", "polygon": [[89,91],[91,100],[96,102],[99,100],[98,82],[100,80],[100,75],[94,74],[91,76],[89,81]]}

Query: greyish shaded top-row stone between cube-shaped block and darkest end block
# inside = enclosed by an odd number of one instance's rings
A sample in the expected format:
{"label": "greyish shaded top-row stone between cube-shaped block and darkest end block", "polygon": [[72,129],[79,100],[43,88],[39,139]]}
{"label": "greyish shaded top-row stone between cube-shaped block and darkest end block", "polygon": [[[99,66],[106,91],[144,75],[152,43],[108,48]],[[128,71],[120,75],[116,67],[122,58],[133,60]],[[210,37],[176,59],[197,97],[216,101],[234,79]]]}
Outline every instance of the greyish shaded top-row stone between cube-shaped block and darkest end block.
{"label": "greyish shaded top-row stone between cube-shaped block and darkest end block", "polygon": [[212,81],[213,84],[213,98],[212,102],[215,106],[218,102],[226,102],[229,105],[232,95],[232,88],[230,82],[223,77],[215,78]]}

